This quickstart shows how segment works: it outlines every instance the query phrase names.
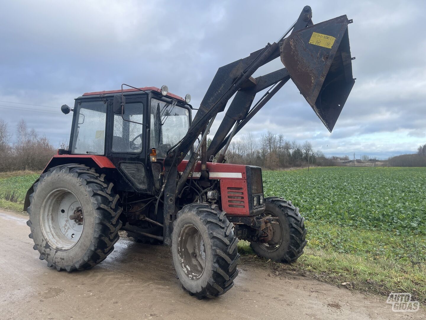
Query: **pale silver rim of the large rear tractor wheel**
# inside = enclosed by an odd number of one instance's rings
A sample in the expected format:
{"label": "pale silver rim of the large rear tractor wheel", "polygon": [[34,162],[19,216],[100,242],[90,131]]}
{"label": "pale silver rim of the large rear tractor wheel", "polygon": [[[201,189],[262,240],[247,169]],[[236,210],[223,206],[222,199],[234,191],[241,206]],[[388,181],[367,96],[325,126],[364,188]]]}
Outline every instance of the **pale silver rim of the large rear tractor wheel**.
{"label": "pale silver rim of the large rear tractor wheel", "polygon": [[56,250],[69,250],[83,233],[84,213],[80,201],[70,190],[52,190],[40,209],[44,239]]}

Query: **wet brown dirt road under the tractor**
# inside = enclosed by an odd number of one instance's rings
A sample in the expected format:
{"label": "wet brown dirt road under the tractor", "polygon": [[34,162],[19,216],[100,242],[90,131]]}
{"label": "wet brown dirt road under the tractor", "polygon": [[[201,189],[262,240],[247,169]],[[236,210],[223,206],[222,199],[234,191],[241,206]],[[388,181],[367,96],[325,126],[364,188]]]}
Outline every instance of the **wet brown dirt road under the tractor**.
{"label": "wet brown dirt road under the tractor", "polygon": [[234,287],[197,300],[175,278],[170,249],[122,237],[89,271],[38,259],[26,216],[0,211],[0,319],[426,319],[394,313],[383,297],[240,265]]}

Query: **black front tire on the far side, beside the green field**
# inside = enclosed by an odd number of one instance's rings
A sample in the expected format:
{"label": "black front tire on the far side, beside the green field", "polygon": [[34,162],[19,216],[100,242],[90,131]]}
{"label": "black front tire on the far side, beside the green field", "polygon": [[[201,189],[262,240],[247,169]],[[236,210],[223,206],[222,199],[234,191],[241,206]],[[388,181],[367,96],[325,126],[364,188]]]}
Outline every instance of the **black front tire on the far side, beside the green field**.
{"label": "black front tire on the far side, beside the green field", "polygon": [[254,252],[272,261],[290,263],[296,261],[303,253],[306,245],[305,219],[300,215],[299,208],[291,201],[282,198],[265,198],[265,215],[279,219],[278,224],[271,224],[272,239],[251,242]]}

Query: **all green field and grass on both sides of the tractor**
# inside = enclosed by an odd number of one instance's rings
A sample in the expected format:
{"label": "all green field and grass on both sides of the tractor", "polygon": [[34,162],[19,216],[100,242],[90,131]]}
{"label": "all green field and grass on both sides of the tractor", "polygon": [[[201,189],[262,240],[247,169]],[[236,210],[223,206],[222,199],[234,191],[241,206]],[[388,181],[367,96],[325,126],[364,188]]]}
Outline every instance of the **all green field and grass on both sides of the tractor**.
{"label": "all green field and grass on both sides of the tractor", "polygon": [[[2,177],[0,206],[22,210],[38,174]],[[292,265],[337,285],[381,294],[409,292],[426,302],[426,168],[314,168],[263,172],[265,196],[300,208],[308,228],[305,254]]]}

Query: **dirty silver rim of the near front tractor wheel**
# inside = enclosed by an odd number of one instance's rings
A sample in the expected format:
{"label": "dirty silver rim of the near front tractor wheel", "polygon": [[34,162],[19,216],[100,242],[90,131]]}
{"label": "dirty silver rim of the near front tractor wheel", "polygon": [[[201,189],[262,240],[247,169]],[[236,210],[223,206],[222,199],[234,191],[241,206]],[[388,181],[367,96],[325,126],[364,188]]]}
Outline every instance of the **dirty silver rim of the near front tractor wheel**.
{"label": "dirty silver rim of the near front tractor wheel", "polygon": [[185,224],[179,233],[178,255],[186,276],[200,279],[206,266],[206,250],[201,233],[193,224]]}

